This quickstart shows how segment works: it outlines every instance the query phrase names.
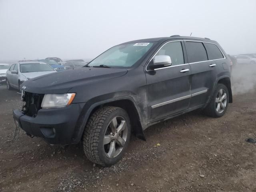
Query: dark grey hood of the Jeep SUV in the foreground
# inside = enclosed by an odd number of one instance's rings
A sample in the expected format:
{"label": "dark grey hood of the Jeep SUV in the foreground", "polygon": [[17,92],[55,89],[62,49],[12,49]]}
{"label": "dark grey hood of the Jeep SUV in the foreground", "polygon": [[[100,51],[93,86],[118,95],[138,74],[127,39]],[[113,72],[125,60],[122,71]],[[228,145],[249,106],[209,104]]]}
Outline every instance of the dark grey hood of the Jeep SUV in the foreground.
{"label": "dark grey hood of the Jeep SUV in the foreground", "polygon": [[23,84],[27,92],[58,94],[67,93],[76,86],[117,78],[126,73],[126,69],[81,67],[33,78]]}

